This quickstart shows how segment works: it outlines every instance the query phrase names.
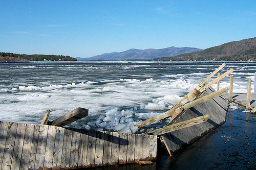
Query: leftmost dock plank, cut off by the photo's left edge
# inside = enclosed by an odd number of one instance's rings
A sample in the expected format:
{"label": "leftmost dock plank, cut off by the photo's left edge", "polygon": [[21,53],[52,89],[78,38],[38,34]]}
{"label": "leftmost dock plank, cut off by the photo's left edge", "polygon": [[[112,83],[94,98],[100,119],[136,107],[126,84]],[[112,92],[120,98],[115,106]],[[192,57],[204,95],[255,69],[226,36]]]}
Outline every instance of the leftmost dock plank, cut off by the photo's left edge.
{"label": "leftmost dock plank, cut off by the photo's left edge", "polygon": [[2,162],[4,158],[5,152],[5,144],[7,138],[7,132],[9,129],[9,122],[1,122],[0,124],[0,169],[2,169]]}

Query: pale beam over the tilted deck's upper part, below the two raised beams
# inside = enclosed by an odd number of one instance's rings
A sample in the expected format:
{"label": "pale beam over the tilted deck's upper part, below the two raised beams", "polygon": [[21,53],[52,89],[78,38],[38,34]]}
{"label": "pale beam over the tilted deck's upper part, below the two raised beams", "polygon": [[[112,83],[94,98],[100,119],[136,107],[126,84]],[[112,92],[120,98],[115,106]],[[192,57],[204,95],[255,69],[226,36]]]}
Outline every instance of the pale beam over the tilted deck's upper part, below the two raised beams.
{"label": "pale beam over the tilted deck's upper part, below the two raised beams", "polygon": [[200,103],[206,102],[206,101],[208,101],[208,100],[214,99],[214,98],[216,98],[217,96],[220,96],[220,95],[222,95],[222,94],[227,93],[227,91],[228,91],[228,88],[226,87],[226,88],[221,89],[221,90],[219,90],[219,91],[216,91],[216,92],[214,92],[214,93],[210,93],[210,94],[208,94],[208,95],[205,95],[205,96],[203,96],[202,98],[199,98],[199,99],[197,99],[197,100],[195,100],[195,101],[189,102],[189,103],[187,103],[187,104],[185,104],[185,105],[183,106],[183,107],[184,107],[184,110],[187,110],[187,109],[190,108],[190,107],[199,105]]}

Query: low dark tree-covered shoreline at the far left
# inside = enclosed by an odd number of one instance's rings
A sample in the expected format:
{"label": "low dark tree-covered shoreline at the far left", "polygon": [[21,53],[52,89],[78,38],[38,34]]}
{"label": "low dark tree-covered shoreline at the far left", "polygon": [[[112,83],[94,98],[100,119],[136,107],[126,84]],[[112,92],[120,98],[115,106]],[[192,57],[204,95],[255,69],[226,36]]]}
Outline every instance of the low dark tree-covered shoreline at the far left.
{"label": "low dark tree-covered shoreline at the far left", "polygon": [[0,61],[77,61],[76,58],[62,55],[42,55],[42,54],[14,54],[0,53]]}

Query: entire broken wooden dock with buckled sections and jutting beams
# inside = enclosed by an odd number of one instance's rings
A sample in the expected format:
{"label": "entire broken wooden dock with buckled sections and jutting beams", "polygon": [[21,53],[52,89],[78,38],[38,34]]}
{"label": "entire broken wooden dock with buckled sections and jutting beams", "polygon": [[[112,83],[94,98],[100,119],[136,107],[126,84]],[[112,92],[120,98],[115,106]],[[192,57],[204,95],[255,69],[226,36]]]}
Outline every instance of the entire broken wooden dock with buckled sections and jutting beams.
{"label": "entire broken wooden dock with buckled sections and jutting beams", "polygon": [[[233,69],[207,83],[222,64],[170,110],[138,123],[138,128],[172,116],[159,129],[144,134],[62,128],[88,115],[77,108],[52,122],[47,112],[41,125],[0,122],[0,169],[77,169],[155,161],[161,137],[170,156],[226,122],[229,103],[211,85]],[[45,125],[46,124],[46,125]],[[141,162],[143,164],[144,162]]]}

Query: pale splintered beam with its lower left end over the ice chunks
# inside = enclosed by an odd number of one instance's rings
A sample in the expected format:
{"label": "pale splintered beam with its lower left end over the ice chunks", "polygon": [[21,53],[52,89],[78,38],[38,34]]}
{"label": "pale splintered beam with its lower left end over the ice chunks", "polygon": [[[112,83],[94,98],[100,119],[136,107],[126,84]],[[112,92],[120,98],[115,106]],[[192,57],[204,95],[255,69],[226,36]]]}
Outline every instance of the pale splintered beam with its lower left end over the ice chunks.
{"label": "pale splintered beam with its lower left end over the ice chunks", "polygon": [[146,125],[149,125],[149,124],[152,124],[153,122],[156,122],[157,120],[161,120],[165,117],[168,117],[170,115],[173,115],[174,113],[175,114],[179,114],[180,112],[182,112],[184,108],[183,107],[180,107],[180,108],[177,108],[177,109],[174,109],[174,110],[168,110],[167,112],[163,113],[163,114],[159,114],[155,117],[152,117],[150,119],[147,119],[145,120],[144,122],[141,122],[141,123],[138,123],[136,124],[135,126],[137,126],[138,128],[141,128],[143,126],[146,126]]}

